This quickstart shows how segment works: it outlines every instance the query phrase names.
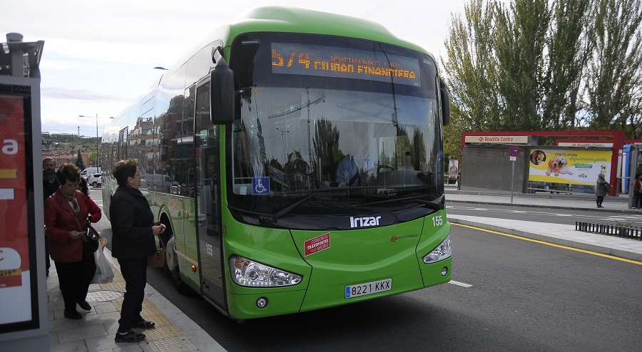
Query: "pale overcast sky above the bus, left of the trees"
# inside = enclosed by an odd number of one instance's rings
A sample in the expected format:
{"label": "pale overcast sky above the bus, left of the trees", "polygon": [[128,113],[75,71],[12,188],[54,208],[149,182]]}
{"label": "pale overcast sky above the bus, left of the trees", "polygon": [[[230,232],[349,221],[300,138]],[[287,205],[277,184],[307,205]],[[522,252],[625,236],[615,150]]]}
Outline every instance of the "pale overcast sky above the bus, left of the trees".
{"label": "pale overcast sky above the bus, left of the trees", "polygon": [[[295,6],[379,22],[439,60],[452,14],[468,0],[2,0],[0,42],[17,32],[45,41],[42,130],[99,135],[185,51],[260,6]],[[224,4],[224,5],[223,5]],[[78,118],[88,115],[91,118]]]}

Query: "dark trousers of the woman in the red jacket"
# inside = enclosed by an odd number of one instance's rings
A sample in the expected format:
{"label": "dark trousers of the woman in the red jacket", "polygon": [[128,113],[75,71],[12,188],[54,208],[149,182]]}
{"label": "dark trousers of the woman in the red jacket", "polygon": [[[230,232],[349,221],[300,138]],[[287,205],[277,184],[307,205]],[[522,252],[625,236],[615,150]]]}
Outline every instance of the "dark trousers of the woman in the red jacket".
{"label": "dark trousers of the woman in the red jacket", "polygon": [[58,272],[58,283],[65,301],[65,309],[76,311],[76,303],[87,298],[89,284],[93,275],[96,274],[96,262],[91,257],[85,257],[80,262],[63,263],[56,262]]}

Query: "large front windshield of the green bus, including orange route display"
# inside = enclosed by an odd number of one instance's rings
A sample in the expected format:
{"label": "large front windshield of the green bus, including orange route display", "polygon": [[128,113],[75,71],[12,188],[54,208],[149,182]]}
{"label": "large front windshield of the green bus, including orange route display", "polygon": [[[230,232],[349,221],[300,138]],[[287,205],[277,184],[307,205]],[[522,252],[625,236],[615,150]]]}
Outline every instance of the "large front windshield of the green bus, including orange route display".
{"label": "large front windshield of the green bus, including orange route display", "polygon": [[442,201],[431,56],[354,38],[250,33],[232,43],[230,68],[230,208],[274,220]]}

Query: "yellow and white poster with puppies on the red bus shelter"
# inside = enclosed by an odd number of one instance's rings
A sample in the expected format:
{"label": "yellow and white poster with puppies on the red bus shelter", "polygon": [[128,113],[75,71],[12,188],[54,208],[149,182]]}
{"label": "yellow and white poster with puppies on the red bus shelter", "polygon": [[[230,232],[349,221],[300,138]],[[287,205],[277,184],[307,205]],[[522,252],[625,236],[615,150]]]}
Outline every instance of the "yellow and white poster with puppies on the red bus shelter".
{"label": "yellow and white poster with puppies on the red bus shelter", "polygon": [[611,178],[612,150],[537,149],[529,155],[529,181],[594,186],[600,172]]}

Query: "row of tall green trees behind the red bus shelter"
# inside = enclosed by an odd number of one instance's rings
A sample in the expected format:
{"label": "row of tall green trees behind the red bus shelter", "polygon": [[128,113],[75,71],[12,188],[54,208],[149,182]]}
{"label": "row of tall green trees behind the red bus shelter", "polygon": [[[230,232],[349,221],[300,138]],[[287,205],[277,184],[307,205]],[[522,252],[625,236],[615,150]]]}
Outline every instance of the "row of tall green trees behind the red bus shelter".
{"label": "row of tall green trees behind the red bus shelter", "polygon": [[444,150],[464,131],[624,130],[642,138],[642,1],[471,0],[442,65]]}

